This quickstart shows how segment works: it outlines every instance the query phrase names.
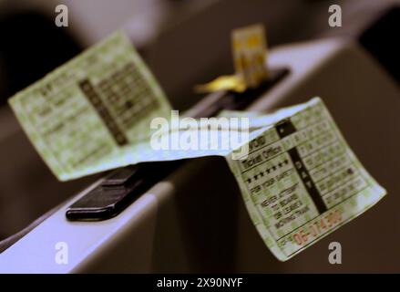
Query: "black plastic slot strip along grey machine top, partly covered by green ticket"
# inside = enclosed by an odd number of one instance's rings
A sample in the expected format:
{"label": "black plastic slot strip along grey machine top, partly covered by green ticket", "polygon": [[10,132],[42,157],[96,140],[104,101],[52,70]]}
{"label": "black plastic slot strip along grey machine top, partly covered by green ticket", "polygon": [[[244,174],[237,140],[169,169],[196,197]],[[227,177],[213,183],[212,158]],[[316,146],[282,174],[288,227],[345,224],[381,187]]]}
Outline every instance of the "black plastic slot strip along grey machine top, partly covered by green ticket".
{"label": "black plastic slot strip along grey machine top, partly covered by green ticket", "polygon": [[[289,73],[287,68],[271,69],[259,87],[242,93],[223,92],[221,98],[209,107],[194,114],[193,118],[209,118],[221,110],[244,110],[262,93],[271,89]],[[71,221],[101,221],[121,213],[130,203],[145,193],[155,183],[176,170],[182,161],[145,162],[110,172],[95,189],[67,208]]]}

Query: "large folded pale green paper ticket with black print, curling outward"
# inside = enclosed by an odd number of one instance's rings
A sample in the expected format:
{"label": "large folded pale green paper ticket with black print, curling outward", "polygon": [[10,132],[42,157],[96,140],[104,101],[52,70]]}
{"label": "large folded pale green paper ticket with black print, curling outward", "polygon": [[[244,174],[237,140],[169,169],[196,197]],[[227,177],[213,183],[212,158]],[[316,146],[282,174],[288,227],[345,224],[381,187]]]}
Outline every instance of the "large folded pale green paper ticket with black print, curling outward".
{"label": "large folded pale green paper ticket with black print, curling outward", "polygon": [[207,147],[155,149],[150,124],[155,119],[170,119],[173,124],[171,108],[120,32],[9,102],[36,150],[61,181],[138,162],[225,157],[252,223],[280,260],[313,245],[385,195],[319,98],[269,115],[222,112],[221,117],[249,120],[248,134],[235,147],[218,146],[228,130],[243,134],[242,130],[221,127],[209,132],[200,124],[199,131],[173,126],[160,132],[159,138],[215,134]]}

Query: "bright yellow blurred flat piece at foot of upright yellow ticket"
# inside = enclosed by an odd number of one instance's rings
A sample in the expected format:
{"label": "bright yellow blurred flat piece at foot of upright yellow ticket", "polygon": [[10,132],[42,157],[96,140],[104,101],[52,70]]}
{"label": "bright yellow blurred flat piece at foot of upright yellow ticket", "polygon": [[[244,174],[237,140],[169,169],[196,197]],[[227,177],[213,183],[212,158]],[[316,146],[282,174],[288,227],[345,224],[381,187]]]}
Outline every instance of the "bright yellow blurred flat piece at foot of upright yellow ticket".
{"label": "bright yellow blurred flat piece at foot of upright yellow ticket", "polygon": [[237,75],[227,75],[215,78],[209,83],[197,85],[194,90],[196,93],[208,93],[223,90],[243,92],[246,88],[243,78]]}

